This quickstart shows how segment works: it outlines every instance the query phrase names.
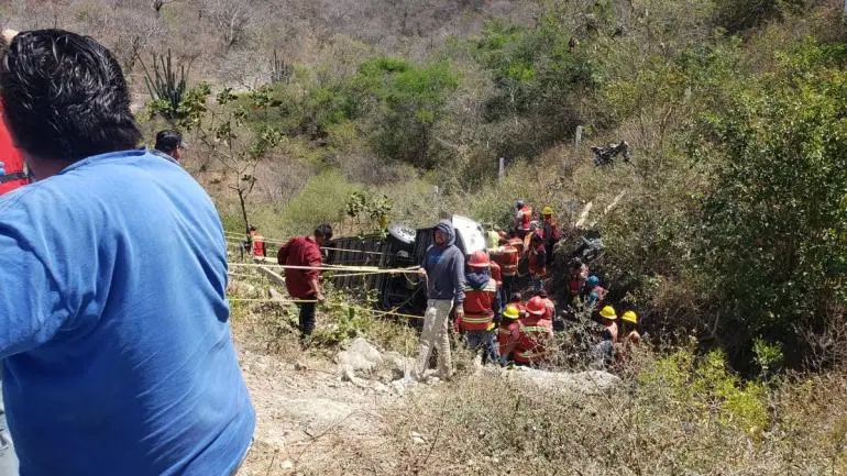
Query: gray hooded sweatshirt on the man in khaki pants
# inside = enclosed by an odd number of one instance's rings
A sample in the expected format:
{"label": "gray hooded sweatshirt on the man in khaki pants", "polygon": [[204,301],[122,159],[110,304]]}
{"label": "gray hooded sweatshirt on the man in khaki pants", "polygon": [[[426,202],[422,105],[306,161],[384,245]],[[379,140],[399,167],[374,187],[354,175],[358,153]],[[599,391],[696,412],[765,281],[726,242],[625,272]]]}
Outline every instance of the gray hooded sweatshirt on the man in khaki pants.
{"label": "gray hooded sweatshirt on the man in khaki pants", "polygon": [[433,244],[424,255],[420,265],[427,270],[427,296],[429,299],[464,302],[464,254],[455,245],[453,224],[441,220],[436,229],[447,234],[443,246]]}

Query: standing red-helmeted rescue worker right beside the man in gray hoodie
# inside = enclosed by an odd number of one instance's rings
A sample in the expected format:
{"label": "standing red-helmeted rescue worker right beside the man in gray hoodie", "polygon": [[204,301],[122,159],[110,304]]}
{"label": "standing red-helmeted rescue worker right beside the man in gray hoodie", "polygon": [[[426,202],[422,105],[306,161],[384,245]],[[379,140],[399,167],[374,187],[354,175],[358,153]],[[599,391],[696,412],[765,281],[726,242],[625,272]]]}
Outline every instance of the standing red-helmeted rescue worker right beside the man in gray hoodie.
{"label": "standing red-helmeted rescue worker right beside the man in gray hoodie", "polygon": [[465,273],[464,316],[455,324],[464,333],[471,351],[483,351],[483,364],[498,362],[495,343],[494,314],[499,306],[497,283],[491,275],[488,254],[477,251],[471,255]]}

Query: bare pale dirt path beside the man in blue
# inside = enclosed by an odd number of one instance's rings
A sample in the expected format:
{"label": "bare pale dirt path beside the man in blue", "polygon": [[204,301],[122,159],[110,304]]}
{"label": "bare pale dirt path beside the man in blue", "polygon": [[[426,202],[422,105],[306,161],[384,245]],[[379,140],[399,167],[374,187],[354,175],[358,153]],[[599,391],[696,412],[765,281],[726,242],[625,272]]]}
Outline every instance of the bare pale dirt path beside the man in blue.
{"label": "bare pale dirt path beside the man in blue", "polygon": [[239,476],[391,472],[381,412],[402,397],[389,387],[340,381],[326,356],[240,357],[257,428]]}

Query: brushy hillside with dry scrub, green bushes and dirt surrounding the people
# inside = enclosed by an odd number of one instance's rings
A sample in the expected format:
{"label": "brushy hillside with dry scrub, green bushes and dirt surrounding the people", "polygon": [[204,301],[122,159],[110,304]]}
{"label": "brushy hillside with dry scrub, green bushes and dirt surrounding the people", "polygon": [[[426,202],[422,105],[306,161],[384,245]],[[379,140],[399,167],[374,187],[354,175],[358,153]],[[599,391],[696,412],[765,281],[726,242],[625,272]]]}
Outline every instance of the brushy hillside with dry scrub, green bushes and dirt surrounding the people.
{"label": "brushy hillside with dry scrub, green bushes and dirt surrounding the people", "polygon": [[[352,337],[410,357],[414,325],[333,289],[300,355],[294,308],[249,301],[276,285],[237,269],[263,418],[248,474],[847,472],[843,2],[21,0],[0,19],[107,44],[148,141],[186,134],[231,244],[244,215],[273,254],[322,221],[507,228],[522,199],[569,229],[593,204],[592,273],[648,337],[592,397],[504,384],[466,355],[411,396],[342,381],[331,359]],[[628,160],[595,165],[592,146],[623,142]],[[547,369],[584,370],[557,339]]]}

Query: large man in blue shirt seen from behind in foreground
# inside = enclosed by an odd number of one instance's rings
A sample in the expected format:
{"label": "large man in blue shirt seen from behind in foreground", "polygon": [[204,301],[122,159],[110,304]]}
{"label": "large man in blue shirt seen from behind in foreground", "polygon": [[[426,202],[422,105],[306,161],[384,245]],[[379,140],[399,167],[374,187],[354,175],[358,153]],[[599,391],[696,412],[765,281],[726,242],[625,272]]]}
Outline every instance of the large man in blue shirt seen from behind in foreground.
{"label": "large man in blue shirt seen from behind in foreground", "polygon": [[215,206],[141,133],[89,37],[14,37],[3,112],[36,181],[0,198],[0,358],[22,476],[229,476],[255,413]]}

